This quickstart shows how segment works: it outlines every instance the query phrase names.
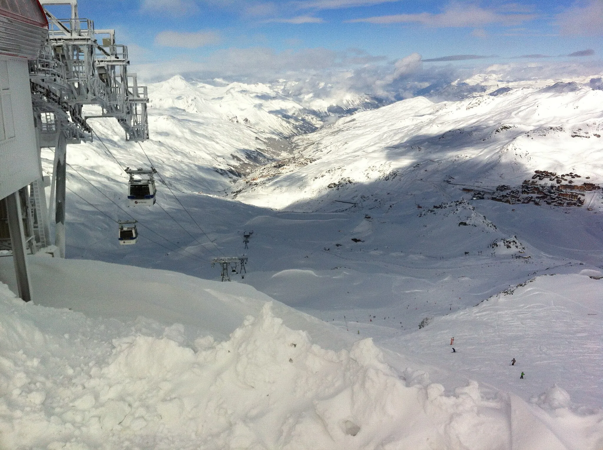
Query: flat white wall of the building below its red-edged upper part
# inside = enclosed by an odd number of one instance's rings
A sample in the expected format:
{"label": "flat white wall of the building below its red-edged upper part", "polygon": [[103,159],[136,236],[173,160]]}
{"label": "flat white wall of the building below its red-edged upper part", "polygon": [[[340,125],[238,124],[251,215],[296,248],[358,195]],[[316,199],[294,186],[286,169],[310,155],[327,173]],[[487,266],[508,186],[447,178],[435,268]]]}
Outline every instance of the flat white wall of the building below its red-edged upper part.
{"label": "flat white wall of the building below its red-edged upper part", "polygon": [[25,58],[0,54],[0,199],[42,176]]}

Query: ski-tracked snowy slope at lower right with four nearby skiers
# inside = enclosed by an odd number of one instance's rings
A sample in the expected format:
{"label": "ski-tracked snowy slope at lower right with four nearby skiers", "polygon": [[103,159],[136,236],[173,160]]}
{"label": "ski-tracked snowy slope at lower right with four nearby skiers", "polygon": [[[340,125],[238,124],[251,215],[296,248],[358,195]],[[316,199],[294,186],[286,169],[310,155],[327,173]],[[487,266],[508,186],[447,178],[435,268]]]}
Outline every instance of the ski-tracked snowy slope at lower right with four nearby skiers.
{"label": "ski-tracked snowy slope at lower right with four nearby skiers", "polygon": [[[554,275],[379,343],[524,397],[535,398],[541,386],[558,384],[572,402],[590,404],[594,398],[603,402],[602,320],[601,280]],[[450,337],[455,338],[452,346]],[[513,358],[517,363],[511,366]],[[519,379],[522,371],[524,380]]]}

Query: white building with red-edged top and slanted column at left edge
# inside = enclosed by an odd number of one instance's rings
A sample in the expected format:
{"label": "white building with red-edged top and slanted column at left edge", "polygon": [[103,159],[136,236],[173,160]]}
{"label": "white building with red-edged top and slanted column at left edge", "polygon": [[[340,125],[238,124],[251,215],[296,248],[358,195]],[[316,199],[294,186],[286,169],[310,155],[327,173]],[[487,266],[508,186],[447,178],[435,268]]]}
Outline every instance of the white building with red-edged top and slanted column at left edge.
{"label": "white building with red-edged top and slanted column at left edge", "polygon": [[42,179],[28,61],[37,58],[47,37],[48,22],[37,0],[0,1],[0,249],[10,242],[19,296],[25,301],[31,298],[25,189]]}

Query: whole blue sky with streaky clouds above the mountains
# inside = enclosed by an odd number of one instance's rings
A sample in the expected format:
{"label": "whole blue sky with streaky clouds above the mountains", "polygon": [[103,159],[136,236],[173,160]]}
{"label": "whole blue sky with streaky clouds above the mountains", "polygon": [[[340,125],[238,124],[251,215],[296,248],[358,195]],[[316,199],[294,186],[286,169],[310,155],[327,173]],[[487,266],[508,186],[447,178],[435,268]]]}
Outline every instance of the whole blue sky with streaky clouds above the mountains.
{"label": "whole blue sky with streaky clouds above the mountains", "polygon": [[462,64],[603,54],[603,0],[80,0],[79,9],[116,29],[133,64],[166,73],[358,67],[413,52]]}

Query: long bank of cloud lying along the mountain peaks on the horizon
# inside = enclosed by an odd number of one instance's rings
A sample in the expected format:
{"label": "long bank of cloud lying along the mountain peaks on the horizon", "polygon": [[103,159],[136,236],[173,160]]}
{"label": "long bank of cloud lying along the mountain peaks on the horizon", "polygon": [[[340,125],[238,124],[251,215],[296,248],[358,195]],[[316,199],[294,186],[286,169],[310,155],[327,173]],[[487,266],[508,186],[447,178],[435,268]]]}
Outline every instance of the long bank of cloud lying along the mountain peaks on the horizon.
{"label": "long bank of cloud lying along the mountain peaks on the horizon", "polygon": [[[530,56],[540,55],[526,55]],[[218,50],[204,61],[135,64],[132,69],[141,82],[166,80],[176,74],[210,84],[219,79],[221,85],[232,81],[274,83],[279,80],[279,89],[287,95],[297,96],[300,101],[312,94],[312,98],[341,98],[342,105],[349,93],[373,96],[386,102],[415,95],[454,100],[461,98],[463,92],[458,92],[462,86],[451,87],[452,81],[483,73],[494,73],[496,80],[507,81],[565,80],[576,76],[588,81],[603,76],[601,60],[572,58],[570,63],[540,60],[490,66],[477,61],[423,65],[418,54],[391,63],[355,49],[346,52],[321,48],[275,52],[268,48],[247,48]]]}

